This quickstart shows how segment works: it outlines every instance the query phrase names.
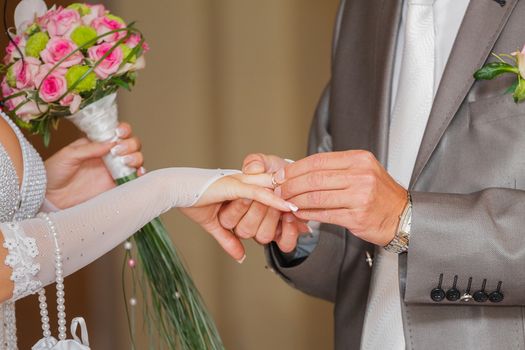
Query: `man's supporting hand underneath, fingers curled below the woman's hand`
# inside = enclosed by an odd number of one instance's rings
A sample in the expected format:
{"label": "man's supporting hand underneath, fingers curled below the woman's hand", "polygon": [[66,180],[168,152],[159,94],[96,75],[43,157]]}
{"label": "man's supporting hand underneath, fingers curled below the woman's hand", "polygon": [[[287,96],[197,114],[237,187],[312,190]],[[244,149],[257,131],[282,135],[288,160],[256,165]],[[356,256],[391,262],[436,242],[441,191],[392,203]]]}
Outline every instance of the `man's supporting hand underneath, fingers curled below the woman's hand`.
{"label": "man's supporting hand underneath, fingers curled below the woman's hand", "polygon": [[[244,159],[242,171],[246,174],[274,173],[287,164],[277,156],[250,154]],[[219,221],[224,228],[233,230],[241,238],[254,238],[261,244],[275,241],[285,253],[295,249],[300,232],[308,231],[308,226],[292,214],[283,215],[275,209],[246,200],[224,205]]]}

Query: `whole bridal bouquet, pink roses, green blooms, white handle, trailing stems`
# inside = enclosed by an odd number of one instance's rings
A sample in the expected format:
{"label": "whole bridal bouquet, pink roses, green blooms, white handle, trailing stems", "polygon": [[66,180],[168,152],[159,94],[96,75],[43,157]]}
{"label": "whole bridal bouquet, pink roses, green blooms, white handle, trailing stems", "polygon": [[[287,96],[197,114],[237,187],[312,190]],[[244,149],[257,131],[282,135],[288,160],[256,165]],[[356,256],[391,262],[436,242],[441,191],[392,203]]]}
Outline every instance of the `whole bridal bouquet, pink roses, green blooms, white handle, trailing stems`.
{"label": "whole bridal bouquet, pink roses, green blooms, white handle, trailing stems", "polygon": [[[93,141],[116,140],[116,92],[130,90],[137,70],[145,67],[148,45],[142,33],[103,5],[47,9],[43,0],[23,0],[15,11],[15,24],[2,67],[6,113],[20,127],[42,135],[46,145],[51,128],[62,118]],[[104,161],[117,184],[136,178],[116,157],[108,155]],[[159,330],[169,348],[222,349],[217,329],[160,220],[142,228],[134,241],[142,268],[145,322],[156,325],[150,328]]]}

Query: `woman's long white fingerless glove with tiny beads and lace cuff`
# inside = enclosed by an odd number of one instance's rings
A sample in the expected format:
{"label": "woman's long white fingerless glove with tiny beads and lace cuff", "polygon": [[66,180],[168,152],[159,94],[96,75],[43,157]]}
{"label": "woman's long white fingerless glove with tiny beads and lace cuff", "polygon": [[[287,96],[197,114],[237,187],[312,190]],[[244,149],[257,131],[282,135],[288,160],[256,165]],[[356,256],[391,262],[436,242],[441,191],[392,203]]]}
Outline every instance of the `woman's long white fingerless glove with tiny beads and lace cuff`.
{"label": "woman's long white fingerless glove with tiny beads and lace cuff", "polygon": [[[220,195],[218,191],[212,191],[205,196],[207,202],[201,203],[201,197],[210,185],[225,175],[238,173],[191,168],[157,170],[81,205],[50,213],[59,234],[64,276],[106,254],[146,223],[174,207],[191,207],[197,202],[206,205],[245,196],[280,210],[290,210],[286,202],[279,202],[270,192],[256,190],[254,186],[243,187],[243,193],[234,193],[230,189],[228,194]],[[251,179],[253,177],[247,181]],[[44,220],[35,218],[0,224],[0,230],[5,238],[4,246],[9,251],[5,262],[13,269],[11,279],[15,282],[15,289],[12,300],[34,293],[54,281],[54,245]]]}

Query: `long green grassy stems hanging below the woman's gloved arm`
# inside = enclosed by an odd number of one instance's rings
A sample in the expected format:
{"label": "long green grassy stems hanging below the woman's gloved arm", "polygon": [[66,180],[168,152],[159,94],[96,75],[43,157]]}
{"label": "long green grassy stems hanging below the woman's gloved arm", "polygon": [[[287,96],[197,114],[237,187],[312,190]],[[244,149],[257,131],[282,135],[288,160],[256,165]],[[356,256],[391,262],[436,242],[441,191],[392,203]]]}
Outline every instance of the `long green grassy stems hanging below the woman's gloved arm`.
{"label": "long green grassy stems hanging below the woman's gloved arm", "polygon": [[[121,185],[134,180],[129,175],[116,180]],[[159,218],[134,236],[143,288],[149,299],[146,322],[155,322],[161,339],[170,349],[221,350],[219,332],[202,297],[184,267],[169,233]]]}

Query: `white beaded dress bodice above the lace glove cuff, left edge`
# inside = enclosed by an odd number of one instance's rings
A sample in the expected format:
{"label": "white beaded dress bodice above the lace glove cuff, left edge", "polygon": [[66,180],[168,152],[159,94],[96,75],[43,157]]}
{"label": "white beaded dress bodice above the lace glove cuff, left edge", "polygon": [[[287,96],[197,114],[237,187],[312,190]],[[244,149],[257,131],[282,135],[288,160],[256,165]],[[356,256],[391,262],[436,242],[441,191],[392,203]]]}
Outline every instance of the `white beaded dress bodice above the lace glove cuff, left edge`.
{"label": "white beaded dress bodice above the lace glove cuff, left edge", "polygon": [[[30,219],[36,216],[46,192],[46,171],[42,158],[20,129],[0,111],[15,132],[23,157],[23,178],[20,182],[13,162],[0,140],[0,222]],[[0,350],[16,349],[14,302],[0,305]]]}

